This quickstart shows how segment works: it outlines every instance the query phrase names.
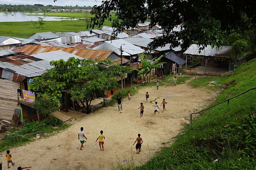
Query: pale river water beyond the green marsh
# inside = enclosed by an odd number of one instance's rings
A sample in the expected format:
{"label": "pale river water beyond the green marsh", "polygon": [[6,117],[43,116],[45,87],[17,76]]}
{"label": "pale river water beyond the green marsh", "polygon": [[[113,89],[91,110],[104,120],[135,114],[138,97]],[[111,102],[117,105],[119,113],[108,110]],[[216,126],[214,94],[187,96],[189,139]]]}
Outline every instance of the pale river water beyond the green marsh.
{"label": "pale river water beyond the green marsh", "polygon": [[[61,21],[73,20],[68,17],[48,17],[48,16],[28,16],[26,14],[44,14],[44,13],[29,13],[29,12],[0,12],[0,22],[16,22],[16,21],[37,21],[38,17],[44,18],[44,21]],[[61,19],[62,18],[62,19]],[[74,19],[78,20],[78,19]]]}

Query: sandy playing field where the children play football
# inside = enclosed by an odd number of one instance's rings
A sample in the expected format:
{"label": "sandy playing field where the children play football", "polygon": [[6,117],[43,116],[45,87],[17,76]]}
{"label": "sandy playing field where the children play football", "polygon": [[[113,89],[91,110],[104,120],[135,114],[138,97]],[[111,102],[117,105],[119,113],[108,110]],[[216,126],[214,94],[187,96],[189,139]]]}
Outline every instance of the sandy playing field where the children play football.
{"label": "sandy playing field where the children play football", "polygon": [[[149,92],[149,102],[144,98]],[[166,111],[162,113],[160,104],[165,99]],[[154,101],[159,103],[160,114],[154,115]],[[152,101],[152,102],[150,102]],[[140,103],[145,106],[143,117],[140,118]],[[18,166],[32,166],[31,170],[41,169],[111,169],[116,161],[127,163],[133,161],[136,165],[145,163],[152,158],[154,152],[164,146],[162,143],[171,140],[178,134],[183,125],[181,117],[188,117],[189,113],[200,110],[212,102],[211,93],[194,89],[186,84],[175,87],[155,86],[142,88],[132,95],[131,101],[123,100],[123,113],[119,113],[117,104],[85,115],[76,120],[69,129],[58,134],[37,140],[35,142],[11,149],[12,159]],[[77,133],[84,127],[88,138],[84,150],[79,150],[80,142]],[[96,138],[103,130],[105,134],[104,152],[100,151]],[[142,152],[136,154],[134,143],[137,134],[143,139]],[[7,169],[5,153],[1,153],[0,162],[3,169]]]}

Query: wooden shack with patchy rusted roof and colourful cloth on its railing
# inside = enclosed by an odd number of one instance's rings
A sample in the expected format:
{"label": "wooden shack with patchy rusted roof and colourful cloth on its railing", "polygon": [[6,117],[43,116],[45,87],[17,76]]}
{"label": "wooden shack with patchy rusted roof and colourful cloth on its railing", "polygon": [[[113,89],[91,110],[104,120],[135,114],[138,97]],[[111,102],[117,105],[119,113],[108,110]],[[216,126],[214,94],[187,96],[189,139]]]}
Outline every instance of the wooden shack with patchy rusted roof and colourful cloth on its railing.
{"label": "wooden shack with patchy rusted roof and colourful cloth on its railing", "polygon": [[15,108],[20,108],[20,122],[40,120],[42,116],[36,114],[32,105],[36,94],[28,91],[29,84],[34,77],[53,67],[50,61],[67,61],[72,56],[83,59],[61,50],[34,56],[11,50],[0,51],[0,119],[11,121]]}

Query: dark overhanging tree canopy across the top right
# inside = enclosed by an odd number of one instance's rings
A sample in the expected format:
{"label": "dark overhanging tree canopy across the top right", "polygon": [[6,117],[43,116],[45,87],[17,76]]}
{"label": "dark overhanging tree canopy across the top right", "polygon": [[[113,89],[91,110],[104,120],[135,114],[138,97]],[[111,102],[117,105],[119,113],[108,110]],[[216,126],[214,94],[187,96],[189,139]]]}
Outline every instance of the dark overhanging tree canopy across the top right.
{"label": "dark overhanging tree canopy across the top right", "polygon": [[[209,44],[219,47],[231,30],[255,25],[254,3],[254,0],[105,0],[100,6],[93,6],[91,13],[95,17],[89,27],[100,27],[106,19],[112,20],[116,34],[150,18],[150,27],[158,23],[164,29],[163,37],[149,44],[151,48],[171,43],[171,48],[181,45],[186,49],[193,42],[203,47]],[[117,11],[116,19],[111,18],[111,11]],[[178,25],[182,31],[172,31]]]}

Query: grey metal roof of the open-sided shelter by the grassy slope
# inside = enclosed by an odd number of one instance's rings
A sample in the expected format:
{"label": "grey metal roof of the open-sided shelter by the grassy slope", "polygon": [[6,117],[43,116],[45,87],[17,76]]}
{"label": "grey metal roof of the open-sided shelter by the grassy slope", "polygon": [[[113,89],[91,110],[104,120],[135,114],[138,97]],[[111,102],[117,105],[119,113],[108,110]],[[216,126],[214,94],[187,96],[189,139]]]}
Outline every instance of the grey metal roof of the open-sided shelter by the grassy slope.
{"label": "grey metal roof of the open-sided shelter by the grassy slope", "polygon": [[231,46],[220,46],[220,49],[216,47],[212,48],[210,45],[201,50],[199,53],[199,48],[202,46],[197,46],[197,44],[192,44],[184,54],[188,55],[202,55],[202,56],[214,56],[214,57],[231,57]]}

